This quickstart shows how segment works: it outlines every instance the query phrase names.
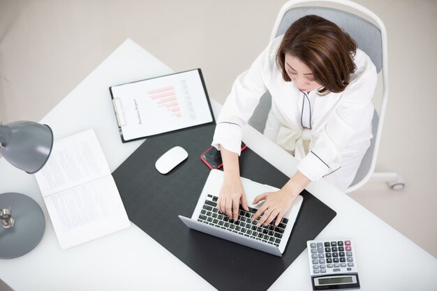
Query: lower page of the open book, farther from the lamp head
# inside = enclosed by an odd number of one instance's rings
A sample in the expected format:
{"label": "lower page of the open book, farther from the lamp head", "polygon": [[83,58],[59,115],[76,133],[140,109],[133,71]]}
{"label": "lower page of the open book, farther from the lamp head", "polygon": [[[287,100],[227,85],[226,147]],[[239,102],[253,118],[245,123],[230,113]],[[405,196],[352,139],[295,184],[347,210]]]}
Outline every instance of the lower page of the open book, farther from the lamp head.
{"label": "lower page of the open book, farther from the lamp head", "polygon": [[45,197],[62,249],[130,226],[111,175]]}

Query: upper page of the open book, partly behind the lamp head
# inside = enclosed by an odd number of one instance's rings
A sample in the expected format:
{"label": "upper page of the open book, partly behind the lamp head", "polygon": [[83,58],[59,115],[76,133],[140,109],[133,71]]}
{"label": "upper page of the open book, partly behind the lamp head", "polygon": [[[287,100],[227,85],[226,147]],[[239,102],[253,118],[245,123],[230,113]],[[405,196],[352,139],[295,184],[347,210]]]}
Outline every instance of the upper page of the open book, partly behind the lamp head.
{"label": "upper page of the open book, partly behind the lamp head", "polygon": [[55,140],[50,157],[35,177],[43,197],[110,174],[96,133],[89,129]]}

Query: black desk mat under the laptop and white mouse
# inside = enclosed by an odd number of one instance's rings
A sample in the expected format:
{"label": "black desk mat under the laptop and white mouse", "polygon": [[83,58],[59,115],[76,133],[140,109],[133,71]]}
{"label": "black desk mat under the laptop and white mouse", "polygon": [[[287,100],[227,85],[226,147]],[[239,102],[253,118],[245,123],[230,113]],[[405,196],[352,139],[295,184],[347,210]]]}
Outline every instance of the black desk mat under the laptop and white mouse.
{"label": "black desk mat under the laptop and white mouse", "polygon": [[[147,139],[112,173],[129,219],[218,290],[267,290],[306,248],[336,212],[316,197],[304,201],[282,258],[190,230],[177,217],[191,217],[209,168],[200,154],[211,144],[215,125]],[[188,158],[168,174],[156,160],[175,146]],[[288,177],[246,149],[240,158],[242,177],[281,188]],[[152,263],[152,262],[150,262]]]}

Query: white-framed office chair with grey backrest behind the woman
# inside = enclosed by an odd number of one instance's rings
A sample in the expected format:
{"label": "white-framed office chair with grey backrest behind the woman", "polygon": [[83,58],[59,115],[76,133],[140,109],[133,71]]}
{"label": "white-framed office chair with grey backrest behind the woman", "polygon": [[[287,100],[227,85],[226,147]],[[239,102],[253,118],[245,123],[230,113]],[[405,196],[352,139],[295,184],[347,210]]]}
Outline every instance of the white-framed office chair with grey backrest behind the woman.
{"label": "white-framed office chair with grey backrest behind the woman", "polygon": [[[370,21],[358,14],[363,15]],[[339,25],[357,42],[360,50],[369,55],[376,66],[379,80],[382,75],[383,93],[380,106],[375,106],[378,111],[375,110],[373,113],[371,145],[366,151],[355,179],[346,190],[346,193],[357,190],[370,179],[372,181],[386,181],[388,186],[394,190],[403,189],[405,186],[403,179],[396,172],[374,172],[388,97],[387,33],[383,22],[375,13],[352,1],[288,1],[282,6],[278,17],[276,17],[270,40],[285,33],[292,22],[304,15],[319,15]],[[264,131],[267,115],[272,106],[271,98],[267,91],[261,97],[258,107],[249,119],[249,124],[260,133]]]}

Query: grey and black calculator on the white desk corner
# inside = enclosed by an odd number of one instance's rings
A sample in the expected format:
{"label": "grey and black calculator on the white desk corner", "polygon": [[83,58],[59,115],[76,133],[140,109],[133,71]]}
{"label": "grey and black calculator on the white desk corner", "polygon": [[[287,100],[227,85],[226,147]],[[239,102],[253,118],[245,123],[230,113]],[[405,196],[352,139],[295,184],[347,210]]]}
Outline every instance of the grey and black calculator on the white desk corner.
{"label": "grey and black calculator on the white desk corner", "polygon": [[306,246],[313,290],[360,289],[352,240],[306,241]]}

